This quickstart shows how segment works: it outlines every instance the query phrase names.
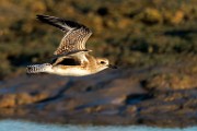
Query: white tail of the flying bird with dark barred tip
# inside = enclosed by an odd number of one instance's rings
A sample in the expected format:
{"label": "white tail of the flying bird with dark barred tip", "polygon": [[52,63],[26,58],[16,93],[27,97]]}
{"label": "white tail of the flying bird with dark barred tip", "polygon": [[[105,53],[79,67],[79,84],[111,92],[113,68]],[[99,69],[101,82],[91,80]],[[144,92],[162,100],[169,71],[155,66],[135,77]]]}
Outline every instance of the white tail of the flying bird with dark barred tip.
{"label": "white tail of the flying bird with dark barred tip", "polygon": [[49,70],[51,70],[51,67],[53,66],[50,63],[27,66],[26,73],[33,74],[48,72]]}

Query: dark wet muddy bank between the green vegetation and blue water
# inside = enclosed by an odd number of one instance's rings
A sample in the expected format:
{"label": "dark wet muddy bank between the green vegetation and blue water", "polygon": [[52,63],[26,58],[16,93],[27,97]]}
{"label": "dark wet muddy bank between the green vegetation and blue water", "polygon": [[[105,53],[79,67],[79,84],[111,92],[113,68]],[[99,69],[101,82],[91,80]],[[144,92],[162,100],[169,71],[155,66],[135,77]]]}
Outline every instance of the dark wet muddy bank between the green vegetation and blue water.
{"label": "dark wet muddy bank between the green vegetation and blue water", "polygon": [[78,124],[194,126],[196,76],[172,67],[105,70],[85,78],[18,76],[0,83],[0,116]]}

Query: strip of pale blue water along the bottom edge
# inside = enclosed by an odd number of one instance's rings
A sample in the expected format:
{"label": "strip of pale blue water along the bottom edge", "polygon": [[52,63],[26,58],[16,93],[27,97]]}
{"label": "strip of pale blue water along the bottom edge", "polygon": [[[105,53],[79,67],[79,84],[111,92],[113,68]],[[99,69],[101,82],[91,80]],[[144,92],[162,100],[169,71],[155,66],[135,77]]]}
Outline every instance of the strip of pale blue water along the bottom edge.
{"label": "strip of pale blue water along the bottom edge", "polygon": [[151,128],[143,126],[71,126],[71,124],[42,124],[20,120],[1,120],[0,131],[197,131],[190,128]]}

